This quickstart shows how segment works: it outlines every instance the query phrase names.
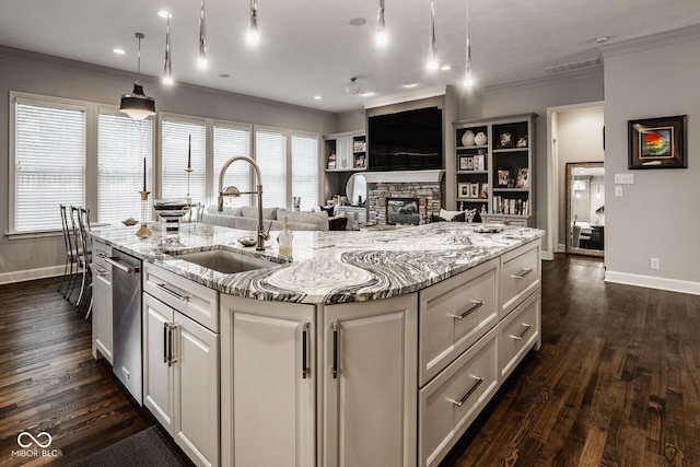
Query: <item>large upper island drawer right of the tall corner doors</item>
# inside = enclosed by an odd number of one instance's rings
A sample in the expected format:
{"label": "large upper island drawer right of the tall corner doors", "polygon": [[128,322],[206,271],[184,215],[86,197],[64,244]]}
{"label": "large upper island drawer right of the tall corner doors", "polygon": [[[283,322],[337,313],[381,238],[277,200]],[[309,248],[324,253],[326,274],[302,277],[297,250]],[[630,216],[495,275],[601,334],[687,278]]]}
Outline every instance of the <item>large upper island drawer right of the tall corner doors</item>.
{"label": "large upper island drawer right of the tall corner doors", "polygon": [[420,386],[498,323],[498,261],[420,292]]}

